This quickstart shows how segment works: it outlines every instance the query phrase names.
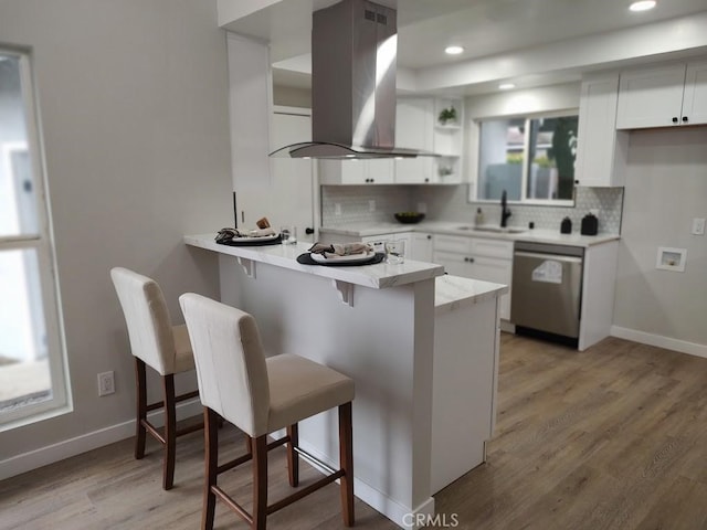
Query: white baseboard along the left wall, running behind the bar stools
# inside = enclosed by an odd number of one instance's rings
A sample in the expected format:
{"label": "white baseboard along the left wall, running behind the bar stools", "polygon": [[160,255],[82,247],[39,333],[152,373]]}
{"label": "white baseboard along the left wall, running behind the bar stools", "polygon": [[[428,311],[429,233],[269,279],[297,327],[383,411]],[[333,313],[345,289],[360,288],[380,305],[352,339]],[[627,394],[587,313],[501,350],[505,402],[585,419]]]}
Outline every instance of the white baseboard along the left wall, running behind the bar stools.
{"label": "white baseboard along the left wall, running behind the bar stools", "polygon": [[[199,399],[184,401],[177,405],[177,420],[184,420],[202,413]],[[155,425],[161,425],[162,414],[160,411],[149,413],[148,417]],[[64,439],[56,444],[40,447],[28,453],[15,455],[0,462],[0,480],[14,477],[22,473],[31,471],[42,466],[53,464],[72,456],[86,453],[87,451],[103,447],[135,435],[135,420],[99,428],[92,433],[82,434],[74,438]]]}

